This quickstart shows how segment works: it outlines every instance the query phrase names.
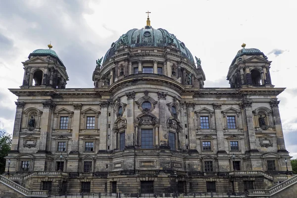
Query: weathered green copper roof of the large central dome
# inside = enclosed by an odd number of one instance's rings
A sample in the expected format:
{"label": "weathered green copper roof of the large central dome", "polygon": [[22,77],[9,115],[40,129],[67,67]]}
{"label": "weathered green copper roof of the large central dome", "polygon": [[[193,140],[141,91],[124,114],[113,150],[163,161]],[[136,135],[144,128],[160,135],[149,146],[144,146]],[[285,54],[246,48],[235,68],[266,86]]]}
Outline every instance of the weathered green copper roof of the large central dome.
{"label": "weathered green copper roof of the large central dome", "polygon": [[157,47],[164,48],[167,46],[175,46],[181,52],[181,54],[189,59],[191,63],[194,63],[194,58],[186,48],[185,44],[179,41],[173,34],[170,34],[164,29],[153,29],[150,26],[142,29],[132,29],[126,34],[123,34],[116,42],[111,44],[110,49],[104,56],[104,61],[108,60],[109,57],[115,54],[120,46],[125,45],[130,48],[138,47]]}

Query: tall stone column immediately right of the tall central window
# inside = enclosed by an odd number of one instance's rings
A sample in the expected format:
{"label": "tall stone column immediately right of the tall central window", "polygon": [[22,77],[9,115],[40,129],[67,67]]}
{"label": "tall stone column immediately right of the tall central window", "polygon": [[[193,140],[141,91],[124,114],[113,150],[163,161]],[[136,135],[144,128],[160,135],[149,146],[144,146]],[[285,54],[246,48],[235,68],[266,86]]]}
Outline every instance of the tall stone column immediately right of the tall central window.
{"label": "tall stone column immediately right of the tall central window", "polygon": [[166,96],[165,92],[158,92],[159,99],[159,146],[168,146],[168,135],[167,135],[167,114],[166,114]]}

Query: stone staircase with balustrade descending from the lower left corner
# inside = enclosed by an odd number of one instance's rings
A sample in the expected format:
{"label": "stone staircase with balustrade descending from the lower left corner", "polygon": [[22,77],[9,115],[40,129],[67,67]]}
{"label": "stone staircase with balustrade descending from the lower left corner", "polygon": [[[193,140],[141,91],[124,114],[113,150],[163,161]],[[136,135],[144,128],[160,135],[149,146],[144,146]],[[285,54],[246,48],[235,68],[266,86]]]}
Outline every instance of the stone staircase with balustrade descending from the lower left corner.
{"label": "stone staircase with balustrade descending from the lower left corner", "polygon": [[21,185],[13,182],[12,180],[7,179],[6,177],[4,177],[2,175],[0,175],[0,183],[2,185],[5,185],[6,187],[9,187],[13,191],[15,191],[25,197],[30,197],[30,198],[31,197],[38,197],[38,198],[49,197],[48,191],[28,190],[28,189],[22,187]]}

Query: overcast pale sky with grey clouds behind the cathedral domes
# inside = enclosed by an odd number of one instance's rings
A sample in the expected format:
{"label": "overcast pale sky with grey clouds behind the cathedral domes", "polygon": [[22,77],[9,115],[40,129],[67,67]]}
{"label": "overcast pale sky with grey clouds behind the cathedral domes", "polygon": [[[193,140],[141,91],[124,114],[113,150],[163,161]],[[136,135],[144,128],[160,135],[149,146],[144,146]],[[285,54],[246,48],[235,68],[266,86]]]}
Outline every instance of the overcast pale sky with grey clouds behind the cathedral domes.
{"label": "overcast pale sky with grey clouds behind the cathedral domes", "polygon": [[53,50],[64,62],[66,88],[93,87],[96,59],[112,42],[146,25],[174,34],[202,61],[205,87],[229,87],[226,75],[241,49],[260,49],[272,60],[286,147],[297,157],[297,54],[294,0],[0,0],[0,130],[12,133],[23,66],[34,49]]}

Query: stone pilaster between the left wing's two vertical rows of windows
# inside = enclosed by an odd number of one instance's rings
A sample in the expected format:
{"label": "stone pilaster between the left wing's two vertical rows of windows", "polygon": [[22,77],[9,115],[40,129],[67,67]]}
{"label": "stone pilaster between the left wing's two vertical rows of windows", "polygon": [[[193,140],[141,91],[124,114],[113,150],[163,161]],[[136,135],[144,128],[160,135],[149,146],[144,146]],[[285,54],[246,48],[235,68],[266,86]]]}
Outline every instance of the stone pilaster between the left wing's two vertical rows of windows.
{"label": "stone pilaster between the left wing's two vertical rows of windows", "polygon": [[72,143],[71,152],[78,152],[78,138],[79,138],[79,125],[80,125],[80,114],[81,114],[81,103],[73,103],[73,127],[72,127]]}

